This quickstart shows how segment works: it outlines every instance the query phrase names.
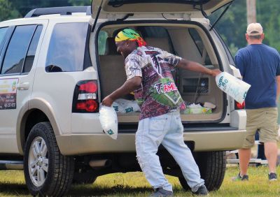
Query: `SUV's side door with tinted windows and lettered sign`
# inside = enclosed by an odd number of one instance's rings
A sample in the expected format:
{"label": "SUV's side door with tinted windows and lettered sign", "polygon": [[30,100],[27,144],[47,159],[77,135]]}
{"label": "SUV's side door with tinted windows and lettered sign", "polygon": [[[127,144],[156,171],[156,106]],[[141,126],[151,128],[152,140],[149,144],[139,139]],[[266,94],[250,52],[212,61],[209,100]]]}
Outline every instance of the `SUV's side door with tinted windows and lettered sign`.
{"label": "SUV's side door with tinted windows and lettered sign", "polygon": [[[5,23],[8,22],[0,25]],[[8,28],[8,32],[0,48],[0,152],[18,153],[18,115],[20,110],[28,108],[36,61],[48,20],[11,22],[8,25],[3,27]]]}

